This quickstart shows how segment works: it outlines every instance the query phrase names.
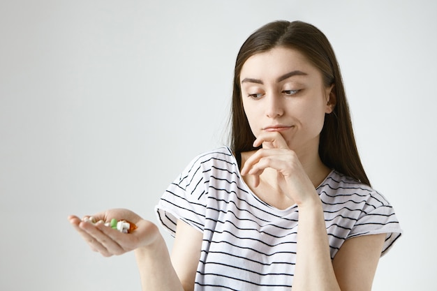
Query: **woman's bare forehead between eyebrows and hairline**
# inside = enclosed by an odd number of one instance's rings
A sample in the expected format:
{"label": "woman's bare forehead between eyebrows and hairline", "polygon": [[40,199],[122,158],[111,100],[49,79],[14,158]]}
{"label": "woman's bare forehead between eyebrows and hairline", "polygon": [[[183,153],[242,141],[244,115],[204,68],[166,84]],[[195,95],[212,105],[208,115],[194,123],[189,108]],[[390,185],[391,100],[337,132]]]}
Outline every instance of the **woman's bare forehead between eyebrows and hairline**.
{"label": "woman's bare forehead between eyebrows and hairline", "polygon": [[272,50],[249,57],[242,66],[240,81],[244,77],[278,77],[293,70],[301,70],[308,75],[319,75],[318,69],[298,50],[274,47]]}

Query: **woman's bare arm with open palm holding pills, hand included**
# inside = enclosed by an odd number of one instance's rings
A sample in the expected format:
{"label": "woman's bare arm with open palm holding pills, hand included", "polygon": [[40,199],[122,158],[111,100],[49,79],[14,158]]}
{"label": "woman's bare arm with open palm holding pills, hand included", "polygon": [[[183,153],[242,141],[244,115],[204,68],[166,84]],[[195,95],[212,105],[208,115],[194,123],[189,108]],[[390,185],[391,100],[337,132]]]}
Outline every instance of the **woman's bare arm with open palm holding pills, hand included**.
{"label": "woman's bare arm with open palm holding pills, hand included", "polygon": [[111,218],[126,219],[137,225],[134,232],[124,234],[103,223],[93,224],[83,222],[77,216],[68,217],[91,249],[105,257],[135,250],[142,290],[193,290],[202,244],[200,232],[178,221],[172,255],[173,267],[167,245],[154,223],[126,209],[112,209],[94,217],[102,221],[110,221]]}

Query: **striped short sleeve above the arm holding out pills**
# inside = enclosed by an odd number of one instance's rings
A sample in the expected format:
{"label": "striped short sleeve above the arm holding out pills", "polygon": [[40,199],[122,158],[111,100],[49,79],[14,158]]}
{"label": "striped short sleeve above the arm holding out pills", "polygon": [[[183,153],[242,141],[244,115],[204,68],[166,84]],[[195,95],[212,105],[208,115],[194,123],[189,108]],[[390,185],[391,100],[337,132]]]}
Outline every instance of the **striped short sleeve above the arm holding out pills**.
{"label": "striped short sleeve above the arm holding out pills", "polygon": [[203,232],[207,193],[203,172],[197,157],[168,186],[155,207],[158,221],[173,237],[178,219]]}

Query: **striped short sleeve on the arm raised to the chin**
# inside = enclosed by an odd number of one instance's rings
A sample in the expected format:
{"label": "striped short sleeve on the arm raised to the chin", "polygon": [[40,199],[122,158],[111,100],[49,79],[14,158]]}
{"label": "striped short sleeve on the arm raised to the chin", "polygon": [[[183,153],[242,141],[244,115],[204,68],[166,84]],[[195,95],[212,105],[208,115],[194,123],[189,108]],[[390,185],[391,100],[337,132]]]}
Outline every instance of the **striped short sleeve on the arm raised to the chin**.
{"label": "striped short sleeve on the arm raised to the chin", "polygon": [[402,234],[392,205],[380,193],[373,192],[366,201],[361,215],[348,235],[348,239],[366,234],[385,233],[382,255],[393,246]]}

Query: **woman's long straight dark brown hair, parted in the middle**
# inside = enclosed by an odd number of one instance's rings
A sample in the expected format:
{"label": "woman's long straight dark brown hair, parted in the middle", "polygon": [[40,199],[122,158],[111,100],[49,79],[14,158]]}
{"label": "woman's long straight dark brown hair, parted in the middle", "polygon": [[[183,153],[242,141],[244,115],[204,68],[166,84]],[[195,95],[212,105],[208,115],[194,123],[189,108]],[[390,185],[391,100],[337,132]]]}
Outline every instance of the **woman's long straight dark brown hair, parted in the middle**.
{"label": "woman's long straight dark brown hair, parted in the middle", "polygon": [[251,151],[255,141],[242,105],[240,73],[249,57],[267,52],[274,47],[298,50],[320,70],[325,86],[334,84],[336,105],[325,114],[325,124],[320,133],[319,156],[327,167],[353,177],[370,186],[355,144],[352,121],[339,64],[325,34],[305,22],[276,21],[265,24],[243,43],[237,61],[232,93],[230,147],[235,154]]}

